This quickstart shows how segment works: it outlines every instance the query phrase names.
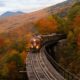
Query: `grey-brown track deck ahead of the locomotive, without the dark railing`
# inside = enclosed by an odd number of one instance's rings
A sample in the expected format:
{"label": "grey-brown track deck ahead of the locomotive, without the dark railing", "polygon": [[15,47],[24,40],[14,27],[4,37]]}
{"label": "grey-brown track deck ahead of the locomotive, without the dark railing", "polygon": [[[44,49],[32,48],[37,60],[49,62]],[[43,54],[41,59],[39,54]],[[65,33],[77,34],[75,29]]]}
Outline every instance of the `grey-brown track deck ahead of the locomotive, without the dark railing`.
{"label": "grey-brown track deck ahead of the locomotive, without the dark railing", "polygon": [[[63,80],[57,79],[53,73],[49,70],[43,57],[44,52],[29,53],[27,70],[29,80]],[[54,72],[55,73],[55,72]]]}

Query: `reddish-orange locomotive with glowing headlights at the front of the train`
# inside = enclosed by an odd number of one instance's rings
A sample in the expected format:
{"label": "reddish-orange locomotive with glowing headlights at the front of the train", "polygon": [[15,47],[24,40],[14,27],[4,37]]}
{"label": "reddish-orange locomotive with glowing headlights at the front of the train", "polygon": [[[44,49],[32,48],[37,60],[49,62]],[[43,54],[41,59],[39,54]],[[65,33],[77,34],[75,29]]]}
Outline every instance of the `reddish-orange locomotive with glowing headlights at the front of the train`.
{"label": "reddish-orange locomotive with glowing headlights at the front of the train", "polygon": [[36,36],[36,37],[33,37],[31,40],[30,40],[30,51],[31,52],[38,52],[41,48],[41,38],[40,36]]}

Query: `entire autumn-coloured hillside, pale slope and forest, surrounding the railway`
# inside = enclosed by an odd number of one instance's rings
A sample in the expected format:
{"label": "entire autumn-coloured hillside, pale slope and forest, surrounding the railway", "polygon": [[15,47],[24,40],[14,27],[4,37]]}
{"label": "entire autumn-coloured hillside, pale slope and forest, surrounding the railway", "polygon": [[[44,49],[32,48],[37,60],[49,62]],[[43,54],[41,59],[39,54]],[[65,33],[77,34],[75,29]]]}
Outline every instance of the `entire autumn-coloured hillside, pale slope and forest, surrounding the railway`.
{"label": "entire autumn-coloured hillside, pale slope and forest, surrounding the railway", "polygon": [[73,3],[74,0],[68,0],[29,14],[0,19],[0,79],[27,80],[26,74],[21,74],[19,71],[25,71],[30,38],[34,33],[53,32],[68,34],[66,47],[61,46],[59,47],[61,49],[57,50],[60,53],[59,63],[80,76],[80,66],[75,66],[80,65],[80,34],[74,36],[77,32],[80,33],[80,16],[77,15],[79,12],[76,13],[76,8],[79,10],[80,4],[75,7]]}

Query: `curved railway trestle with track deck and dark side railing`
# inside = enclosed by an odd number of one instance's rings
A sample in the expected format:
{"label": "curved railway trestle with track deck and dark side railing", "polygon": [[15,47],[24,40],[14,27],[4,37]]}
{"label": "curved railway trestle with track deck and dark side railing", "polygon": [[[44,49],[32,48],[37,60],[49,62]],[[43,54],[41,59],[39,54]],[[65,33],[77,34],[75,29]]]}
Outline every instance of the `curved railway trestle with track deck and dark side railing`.
{"label": "curved railway trestle with track deck and dark side railing", "polygon": [[79,80],[77,77],[74,77],[61,68],[54,59],[51,58],[47,51],[48,46],[55,45],[60,39],[64,38],[64,35],[54,36],[51,40],[43,43],[44,46],[39,53],[28,54],[26,69],[29,80]]}

